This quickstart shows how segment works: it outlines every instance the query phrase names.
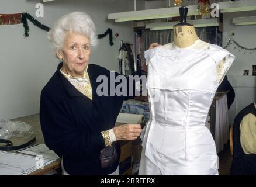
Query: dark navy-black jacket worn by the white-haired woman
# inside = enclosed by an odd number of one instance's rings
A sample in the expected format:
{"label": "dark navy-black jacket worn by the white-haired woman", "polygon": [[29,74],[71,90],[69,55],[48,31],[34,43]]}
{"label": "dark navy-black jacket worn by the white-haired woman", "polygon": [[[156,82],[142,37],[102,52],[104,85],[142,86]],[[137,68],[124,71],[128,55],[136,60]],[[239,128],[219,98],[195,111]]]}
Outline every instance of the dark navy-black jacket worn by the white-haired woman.
{"label": "dark navy-black jacket worn by the white-haired woman", "polygon": [[70,175],[110,174],[119,164],[120,146],[116,144],[116,162],[101,168],[99,153],[105,147],[101,131],[115,125],[123,100],[133,96],[98,96],[96,88],[101,83],[96,79],[99,75],[109,79],[109,70],[89,64],[91,100],[61,74],[61,67],[62,63],[41,91],[40,123],[45,143],[63,157],[65,171]]}

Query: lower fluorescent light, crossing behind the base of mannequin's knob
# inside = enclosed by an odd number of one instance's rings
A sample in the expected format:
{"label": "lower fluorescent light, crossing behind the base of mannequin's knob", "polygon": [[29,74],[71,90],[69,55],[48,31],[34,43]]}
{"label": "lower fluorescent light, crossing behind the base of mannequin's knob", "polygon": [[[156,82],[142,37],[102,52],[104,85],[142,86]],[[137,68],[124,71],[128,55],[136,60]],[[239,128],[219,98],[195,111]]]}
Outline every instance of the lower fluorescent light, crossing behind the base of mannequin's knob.
{"label": "lower fluorescent light, crossing behind the base of mannequin's knob", "polygon": [[[146,29],[150,30],[167,30],[173,29],[174,25],[179,22],[167,22],[167,23],[148,23]],[[193,24],[194,27],[211,27],[219,26],[219,19],[210,18],[210,19],[197,19],[197,20],[188,20],[188,23]]]}

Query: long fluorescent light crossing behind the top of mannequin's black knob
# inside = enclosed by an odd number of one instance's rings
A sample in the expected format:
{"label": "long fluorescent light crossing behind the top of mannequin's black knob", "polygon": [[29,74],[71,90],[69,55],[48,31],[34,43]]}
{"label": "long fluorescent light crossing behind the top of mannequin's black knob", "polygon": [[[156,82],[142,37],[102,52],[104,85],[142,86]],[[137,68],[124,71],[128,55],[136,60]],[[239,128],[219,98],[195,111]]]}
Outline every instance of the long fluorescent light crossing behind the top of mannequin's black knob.
{"label": "long fluorescent light crossing behind the top of mannequin's black knob", "polygon": [[[188,7],[188,16],[199,14],[197,5],[191,5],[187,7]],[[108,19],[115,19],[115,22],[127,22],[127,21],[133,21],[133,20],[171,18],[176,16],[179,16],[179,7],[110,13],[108,15]]]}

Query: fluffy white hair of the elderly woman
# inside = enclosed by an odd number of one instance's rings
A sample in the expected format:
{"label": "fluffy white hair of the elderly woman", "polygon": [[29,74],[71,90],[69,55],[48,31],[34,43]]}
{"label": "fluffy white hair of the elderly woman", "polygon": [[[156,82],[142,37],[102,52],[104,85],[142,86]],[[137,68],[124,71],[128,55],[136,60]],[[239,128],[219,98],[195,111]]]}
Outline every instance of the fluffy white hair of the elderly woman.
{"label": "fluffy white hair of the elderly woman", "polygon": [[91,47],[98,44],[98,38],[95,34],[94,22],[85,12],[73,12],[62,16],[54,23],[51,30],[48,32],[48,39],[53,43],[56,50],[63,47],[65,34],[67,32],[75,32],[88,37]]}

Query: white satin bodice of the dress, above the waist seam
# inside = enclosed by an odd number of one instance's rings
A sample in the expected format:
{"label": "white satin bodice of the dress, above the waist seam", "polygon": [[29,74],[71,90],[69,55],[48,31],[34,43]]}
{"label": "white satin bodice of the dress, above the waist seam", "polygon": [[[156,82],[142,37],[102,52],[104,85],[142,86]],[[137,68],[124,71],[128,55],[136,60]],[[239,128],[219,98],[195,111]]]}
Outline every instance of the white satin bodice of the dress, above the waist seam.
{"label": "white satin bodice of the dress, above the waist seam", "polygon": [[152,117],[174,126],[205,125],[220,84],[215,76],[216,66],[226,57],[224,77],[234,56],[216,45],[203,50],[180,49],[174,43],[168,49],[156,47],[145,54]]}

